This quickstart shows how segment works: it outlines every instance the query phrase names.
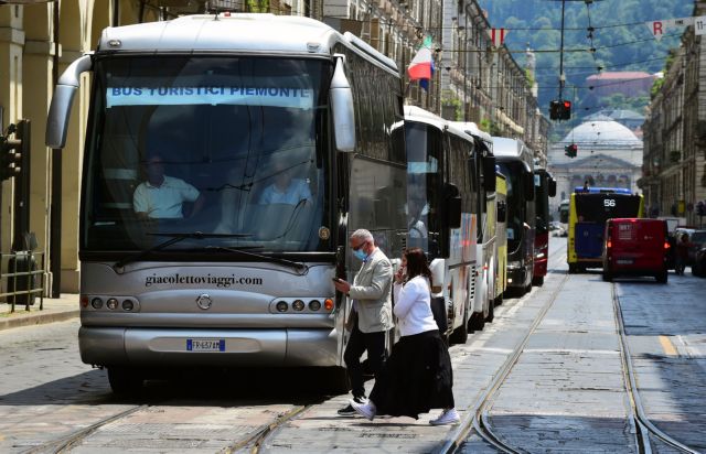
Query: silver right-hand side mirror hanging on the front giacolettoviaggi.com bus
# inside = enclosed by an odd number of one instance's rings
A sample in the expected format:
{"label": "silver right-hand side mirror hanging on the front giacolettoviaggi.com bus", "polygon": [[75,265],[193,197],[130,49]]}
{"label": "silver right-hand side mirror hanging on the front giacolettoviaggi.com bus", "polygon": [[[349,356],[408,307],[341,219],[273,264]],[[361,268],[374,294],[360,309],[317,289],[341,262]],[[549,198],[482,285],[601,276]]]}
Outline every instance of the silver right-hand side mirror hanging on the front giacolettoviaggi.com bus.
{"label": "silver right-hand side mirror hanging on the front giacolettoviaggi.com bus", "polygon": [[353,90],[345,77],[343,65],[345,57],[335,55],[335,69],[331,79],[331,112],[333,116],[333,136],[339,151],[355,151],[355,112],[353,110]]}

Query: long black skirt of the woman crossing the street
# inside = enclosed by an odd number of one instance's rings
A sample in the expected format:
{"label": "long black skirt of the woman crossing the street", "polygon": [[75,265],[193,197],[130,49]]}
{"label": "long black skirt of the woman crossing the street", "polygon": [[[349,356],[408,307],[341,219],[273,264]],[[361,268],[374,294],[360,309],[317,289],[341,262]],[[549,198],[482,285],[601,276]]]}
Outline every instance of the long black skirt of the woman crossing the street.
{"label": "long black skirt of the woman crossing the street", "polygon": [[453,408],[452,388],[449,350],[435,329],[399,338],[370,398],[377,414],[418,419],[431,409]]}

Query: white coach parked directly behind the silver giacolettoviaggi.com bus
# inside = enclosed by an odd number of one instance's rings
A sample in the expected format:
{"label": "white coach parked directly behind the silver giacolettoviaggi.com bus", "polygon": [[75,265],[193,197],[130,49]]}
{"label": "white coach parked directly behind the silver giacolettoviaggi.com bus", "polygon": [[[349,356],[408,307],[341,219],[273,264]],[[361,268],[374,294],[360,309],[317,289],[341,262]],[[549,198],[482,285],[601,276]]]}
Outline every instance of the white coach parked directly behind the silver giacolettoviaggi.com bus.
{"label": "white coach parked directly behind the silver giacolettoviaggi.com bus", "polygon": [[466,343],[473,321],[488,315],[488,302],[485,314],[473,306],[480,267],[475,245],[484,194],[479,175],[494,162],[457,125],[418,107],[405,106],[405,134],[407,245],[428,252],[432,296],[448,307],[450,340]]}

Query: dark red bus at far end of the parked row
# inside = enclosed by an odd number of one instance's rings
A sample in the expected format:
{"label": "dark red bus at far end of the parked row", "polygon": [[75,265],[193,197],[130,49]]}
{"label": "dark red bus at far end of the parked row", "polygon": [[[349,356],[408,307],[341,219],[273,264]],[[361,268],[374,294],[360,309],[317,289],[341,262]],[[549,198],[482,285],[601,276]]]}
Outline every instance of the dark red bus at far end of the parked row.
{"label": "dark red bus at far end of the parked row", "polygon": [[[536,164],[536,163],[535,163]],[[549,258],[549,197],[556,195],[556,180],[545,167],[534,167],[534,271],[532,283],[544,284],[547,275],[547,260]]]}

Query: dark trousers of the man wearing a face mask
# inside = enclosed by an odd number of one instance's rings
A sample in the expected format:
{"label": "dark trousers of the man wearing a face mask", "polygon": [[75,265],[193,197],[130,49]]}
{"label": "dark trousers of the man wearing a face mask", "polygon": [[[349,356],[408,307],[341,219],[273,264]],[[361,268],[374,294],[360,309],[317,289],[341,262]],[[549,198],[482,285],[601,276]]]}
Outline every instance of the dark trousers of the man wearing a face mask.
{"label": "dark trousers of the man wearing a face mask", "polygon": [[343,360],[345,367],[349,370],[349,378],[351,379],[351,388],[354,398],[365,397],[365,388],[363,387],[363,365],[361,364],[361,356],[363,352],[367,350],[367,363],[371,370],[377,375],[385,361],[385,332],[363,333],[357,327],[351,332],[351,338],[345,346],[345,353],[343,354]]}

